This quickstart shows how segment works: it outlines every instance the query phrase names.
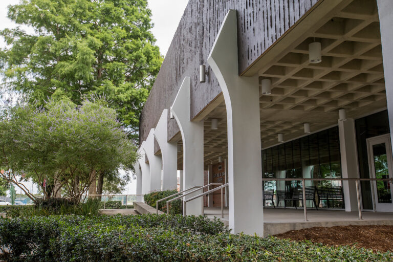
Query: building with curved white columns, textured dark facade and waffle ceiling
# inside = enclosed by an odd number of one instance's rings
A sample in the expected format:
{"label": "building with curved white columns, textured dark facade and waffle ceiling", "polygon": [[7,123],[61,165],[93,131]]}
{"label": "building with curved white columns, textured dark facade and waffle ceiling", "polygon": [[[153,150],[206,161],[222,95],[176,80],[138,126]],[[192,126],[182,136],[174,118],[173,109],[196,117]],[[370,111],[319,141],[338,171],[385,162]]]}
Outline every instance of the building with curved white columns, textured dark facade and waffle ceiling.
{"label": "building with curved white columns, textured dark facade and waffle ceiling", "polygon": [[190,0],[143,108],[138,192],[223,162],[235,233],[263,235],[263,191],[301,179],[342,191],[320,209],[393,212],[389,181],[355,183],[393,174],[391,25],[389,0]]}

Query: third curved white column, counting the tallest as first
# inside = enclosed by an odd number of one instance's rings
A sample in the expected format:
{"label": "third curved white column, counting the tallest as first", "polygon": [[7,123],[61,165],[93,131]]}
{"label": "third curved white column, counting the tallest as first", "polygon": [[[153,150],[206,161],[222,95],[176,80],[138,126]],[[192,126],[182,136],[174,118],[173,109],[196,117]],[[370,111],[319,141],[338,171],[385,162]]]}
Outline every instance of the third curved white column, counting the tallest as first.
{"label": "third curved white column, counting the tallest as first", "polygon": [[178,183],[178,146],[168,143],[168,110],[164,109],[154,130],[154,137],[161,149],[162,157],[162,188],[176,189]]}

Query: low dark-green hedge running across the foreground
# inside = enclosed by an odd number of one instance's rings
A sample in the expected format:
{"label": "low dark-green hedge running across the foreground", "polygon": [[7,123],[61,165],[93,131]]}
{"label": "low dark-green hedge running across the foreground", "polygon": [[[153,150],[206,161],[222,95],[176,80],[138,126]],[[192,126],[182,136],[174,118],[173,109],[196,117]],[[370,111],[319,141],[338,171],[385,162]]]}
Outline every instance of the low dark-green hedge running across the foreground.
{"label": "low dark-green hedge running across the foreground", "polygon": [[0,219],[0,246],[10,251],[6,261],[393,260],[390,252],[233,235],[204,216],[155,214]]}

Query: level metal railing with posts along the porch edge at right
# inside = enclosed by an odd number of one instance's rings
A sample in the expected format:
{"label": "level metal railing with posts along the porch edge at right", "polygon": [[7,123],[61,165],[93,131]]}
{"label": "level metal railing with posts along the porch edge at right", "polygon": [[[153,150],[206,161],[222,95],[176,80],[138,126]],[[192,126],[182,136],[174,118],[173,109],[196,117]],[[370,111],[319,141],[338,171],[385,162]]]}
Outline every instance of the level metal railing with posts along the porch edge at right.
{"label": "level metal railing with posts along the porch edge at right", "polygon": [[[360,193],[359,193],[359,181],[391,181],[393,178],[389,179],[379,179],[379,178],[262,178],[262,181],[301,181],[302,183],[302,194],[303,194],[303,210],[304,210],[304,221],[309,221],[307,217],[307,207],[305,199],[305,181],[355,181],[356,184],[356,195],[359,210],[359,220],[363,220],[362,210],[360,206]],[[374,199],[374,186],[371,186],[371,191],[373,195],[373,204],[375,209],[375,199]]]}

